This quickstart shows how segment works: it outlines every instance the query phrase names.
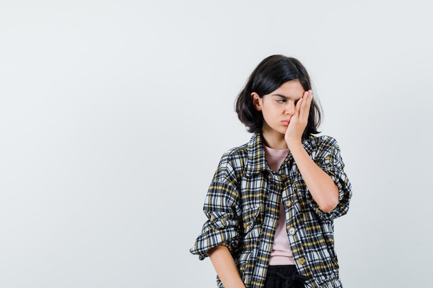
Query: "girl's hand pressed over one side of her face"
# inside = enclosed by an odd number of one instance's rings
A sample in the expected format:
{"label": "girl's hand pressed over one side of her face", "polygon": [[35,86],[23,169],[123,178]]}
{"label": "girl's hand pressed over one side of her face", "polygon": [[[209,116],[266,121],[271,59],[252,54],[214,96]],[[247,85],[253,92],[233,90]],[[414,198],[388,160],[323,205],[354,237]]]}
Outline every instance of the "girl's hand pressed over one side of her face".
{"label": "girl's hand pressed over one side of her face", "polygon": [[291,117],[290,124],[284,135],[284,140],[286,140],[289,148],[295,142],[302,142],[302,134],[308,123],[311,101],[313,101],[313,94],[311,90],[308,90],[304,92],[295,106],[295,114]]}

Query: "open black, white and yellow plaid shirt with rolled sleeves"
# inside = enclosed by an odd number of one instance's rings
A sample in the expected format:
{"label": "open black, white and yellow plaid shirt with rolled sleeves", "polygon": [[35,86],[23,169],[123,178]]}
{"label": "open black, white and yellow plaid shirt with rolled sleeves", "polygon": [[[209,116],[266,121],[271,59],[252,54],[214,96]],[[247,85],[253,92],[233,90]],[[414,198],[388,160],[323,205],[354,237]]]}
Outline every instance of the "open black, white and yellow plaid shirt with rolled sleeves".
{"label": "open black, white and yellow plaid shirt with rolled sleeves", "polygon": [[[278,173],[266,162],[261,135],[223,155],[206,195],[203,225],[191,253],[203,260],[217,245],[228,247],[247,288],[264,287],[279,204],[299,271],[310,278],[305,287],[342,287],[334,251],[333,220],[347,213],[351,184],[344,173],[337,142],[310,136],[302,142],[308,155],[339,189],[338,206],[324,213],[302,180],[291,153]],[[223,288],[219,278],[218,287]]]}

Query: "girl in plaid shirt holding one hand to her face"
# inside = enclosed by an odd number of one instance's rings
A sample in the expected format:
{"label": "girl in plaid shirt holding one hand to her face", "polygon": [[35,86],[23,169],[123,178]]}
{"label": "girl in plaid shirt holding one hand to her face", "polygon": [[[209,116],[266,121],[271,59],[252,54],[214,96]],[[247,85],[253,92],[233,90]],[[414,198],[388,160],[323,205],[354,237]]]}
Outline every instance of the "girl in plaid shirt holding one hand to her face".
{"label": "girl in plaid shirt holding one hand to her face", "polygon": [[210,256],[220,288],[342,287],[333,220],[351,184],[337,142],[314,136],[320,107],[297,59],[267,57],[236,100],[253,133],[219,162],[191,253]]}

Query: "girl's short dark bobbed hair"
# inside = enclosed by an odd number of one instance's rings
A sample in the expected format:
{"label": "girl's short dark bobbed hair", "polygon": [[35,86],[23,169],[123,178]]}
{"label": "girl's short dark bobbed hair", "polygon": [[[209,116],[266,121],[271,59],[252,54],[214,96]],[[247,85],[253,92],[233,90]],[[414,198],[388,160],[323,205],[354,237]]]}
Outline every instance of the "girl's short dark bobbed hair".
{"label": "girl's short dark bobbed hair", "polygon": [[[248,128],[248,132],[261,132],[263,116],[252,104],[251,93],[255,92],[260,97],[267,95],[282,86],[286,81],[299,79],[304,90],[311,89],[310,76],[305,67],[295,58],[283,55],[272,55],[265,58],[252,71],[250,78],[239,93],[235,103],[235,110],[239,120]],[[311,134],[317,134],[322,120],[322,108],[319,102],[313,98],[311,102],[308,123],[302,138]]]}

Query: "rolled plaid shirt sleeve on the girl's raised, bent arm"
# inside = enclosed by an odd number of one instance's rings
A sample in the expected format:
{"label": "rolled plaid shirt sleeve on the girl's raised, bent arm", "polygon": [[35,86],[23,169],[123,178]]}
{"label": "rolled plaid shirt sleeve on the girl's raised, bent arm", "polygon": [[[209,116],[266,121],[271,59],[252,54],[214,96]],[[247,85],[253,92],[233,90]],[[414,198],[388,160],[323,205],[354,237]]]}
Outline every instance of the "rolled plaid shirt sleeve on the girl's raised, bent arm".
{"label": "rolled plaid shirt sleeve on the girl's raised, bent arm", "polygon": [[344,172],[344,163],[340,155],[340,147],[335,139],[324,136],[322,142],[317,147],[317,150],[312,155],[315,163],[325,171],[338,187],[338,205],[329,213],[324,213],[313,200],[311,193],[307,191],[306,198],[308,205],[317,213],[323,220],[333,220],[349,211],[349,201],[351,199],[351,183]]}

